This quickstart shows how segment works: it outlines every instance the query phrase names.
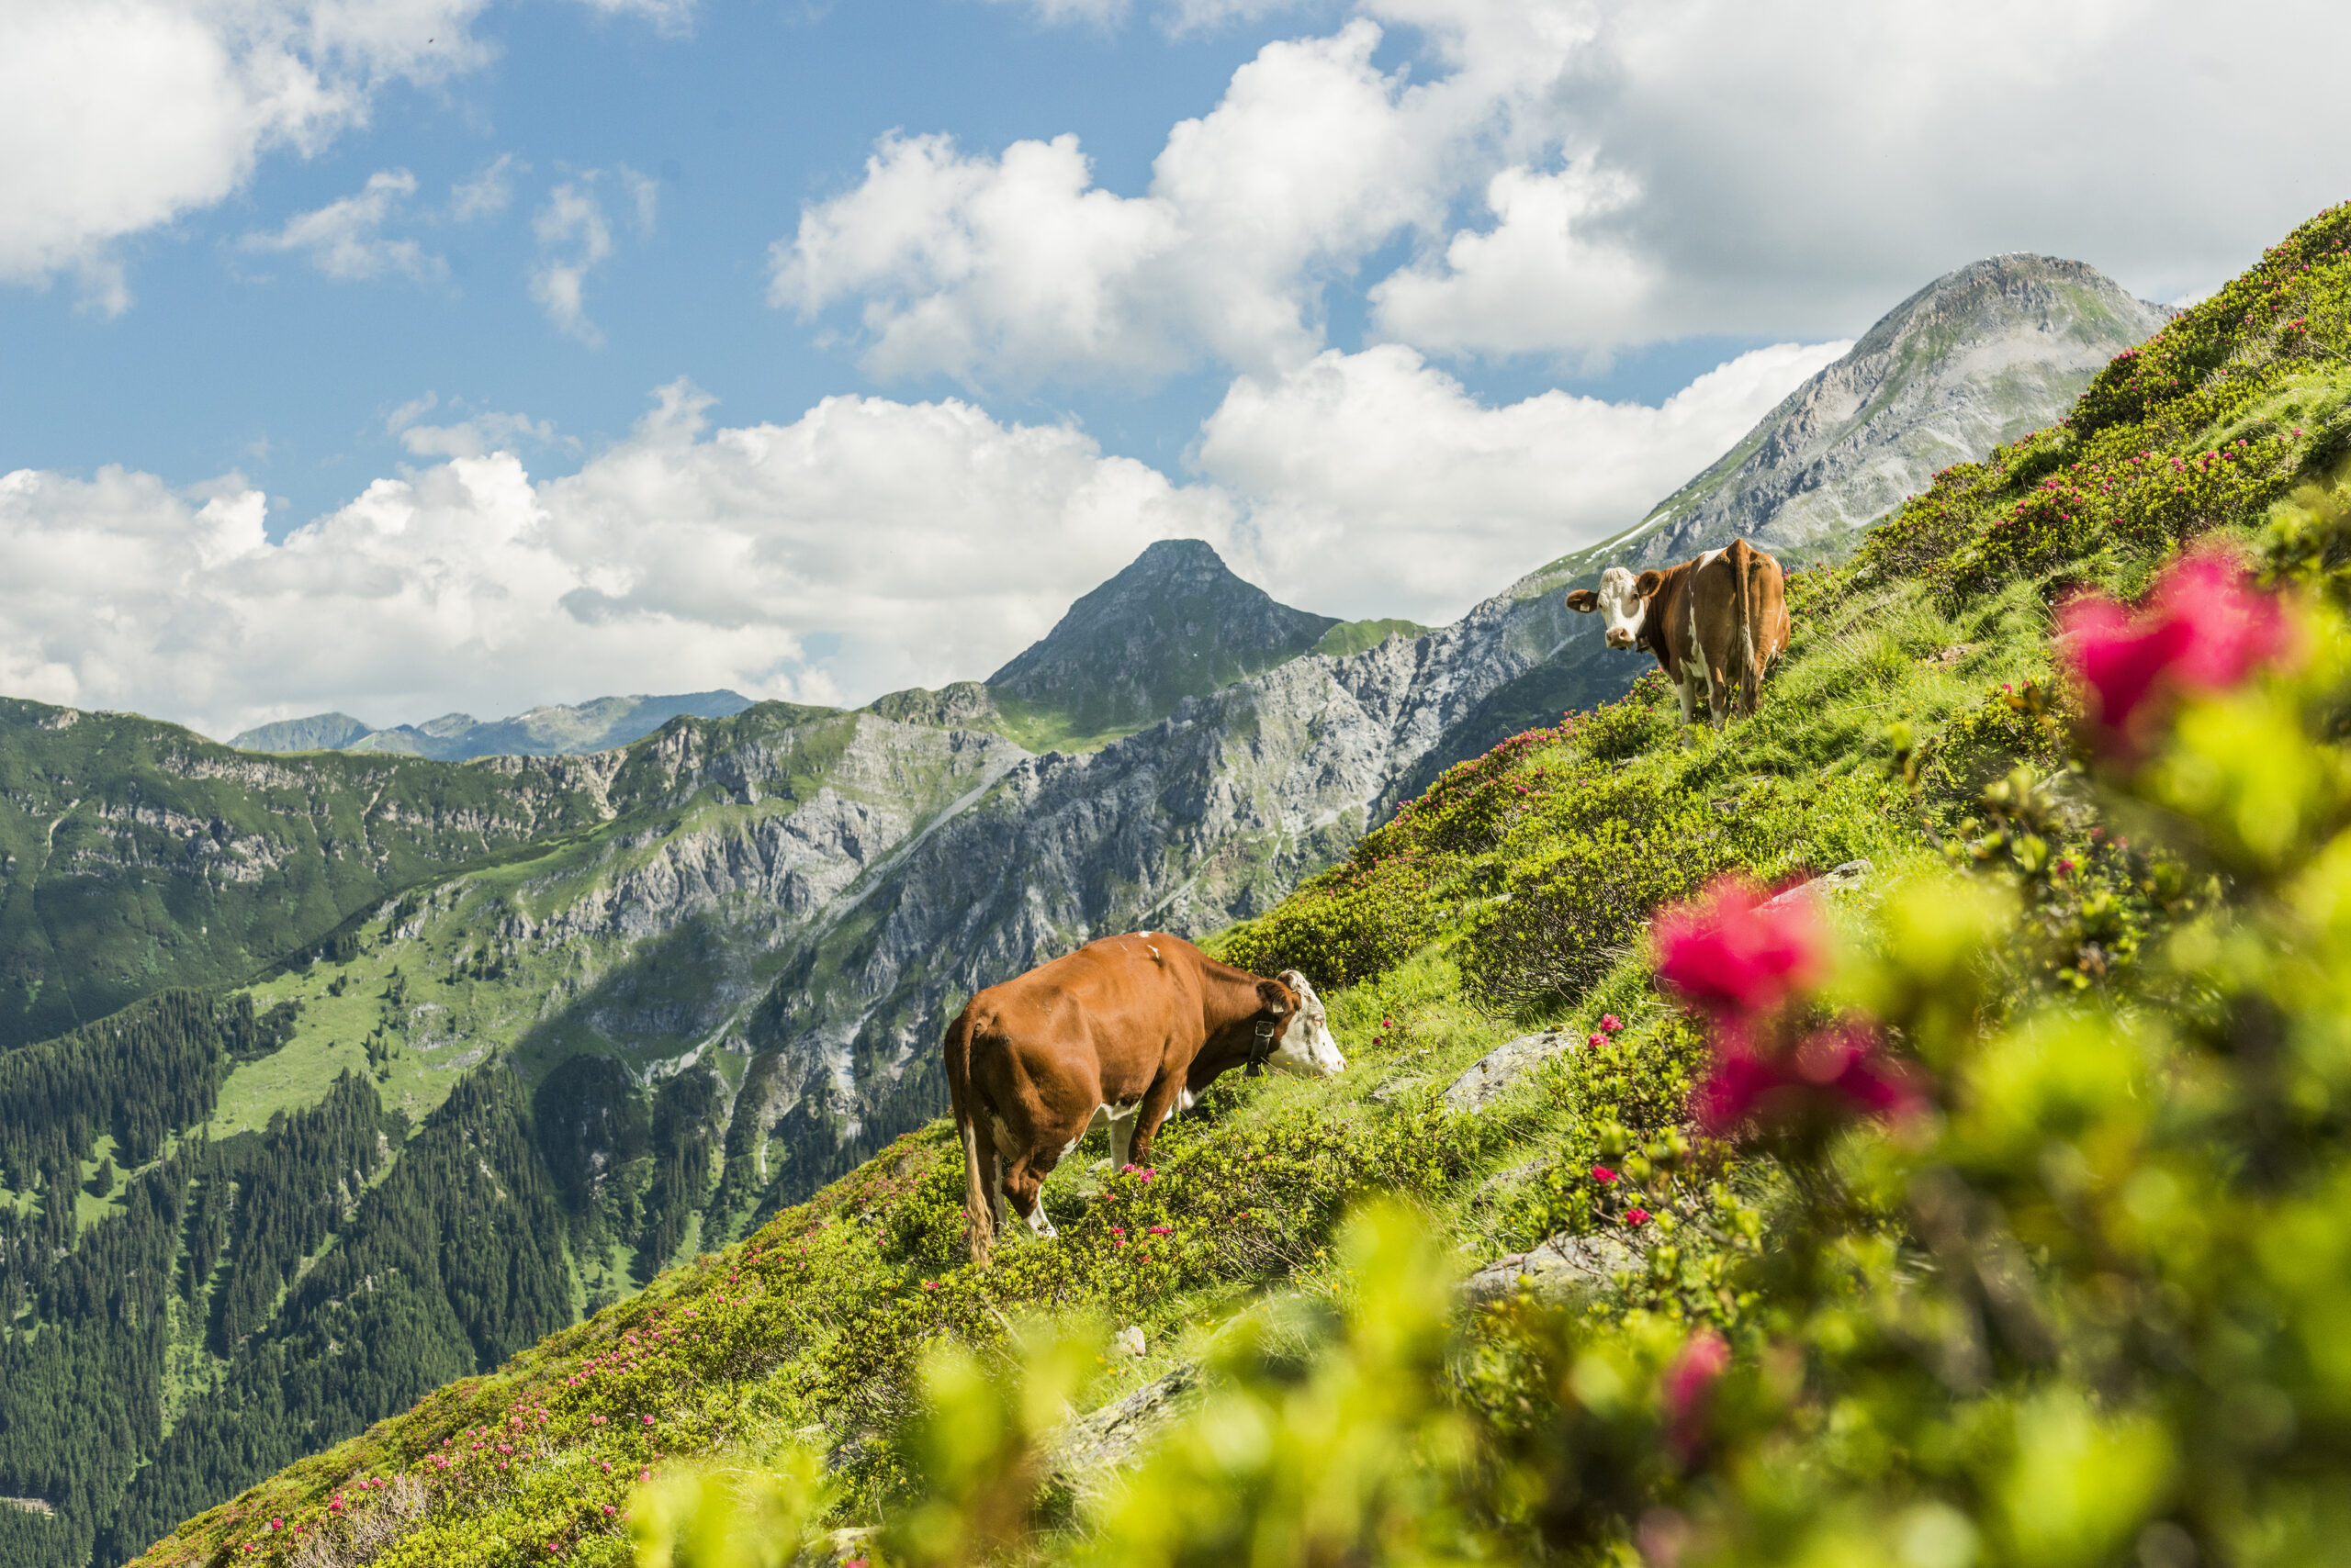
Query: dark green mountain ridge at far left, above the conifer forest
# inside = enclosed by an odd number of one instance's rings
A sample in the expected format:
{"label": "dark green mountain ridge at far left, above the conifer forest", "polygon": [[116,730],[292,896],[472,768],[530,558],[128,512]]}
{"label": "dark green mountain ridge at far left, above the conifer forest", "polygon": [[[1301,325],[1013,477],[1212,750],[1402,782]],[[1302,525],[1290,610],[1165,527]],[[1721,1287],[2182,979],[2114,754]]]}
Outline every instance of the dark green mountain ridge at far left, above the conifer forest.
{"label": "dark green mountain ridge at far left, above the conifer forest", "polygon": [[404,886],[602,818],[597,764],[254,757],[0,698],[0,1048],[242,980]]}

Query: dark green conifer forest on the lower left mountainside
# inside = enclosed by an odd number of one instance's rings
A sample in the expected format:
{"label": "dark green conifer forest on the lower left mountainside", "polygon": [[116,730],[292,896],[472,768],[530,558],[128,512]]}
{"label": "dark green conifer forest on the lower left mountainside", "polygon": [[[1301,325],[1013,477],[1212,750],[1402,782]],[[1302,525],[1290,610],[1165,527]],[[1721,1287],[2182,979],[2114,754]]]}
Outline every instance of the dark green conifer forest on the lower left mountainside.
{"label": "dark green conifer forest on the lower left mountainside", "polygon": [[[468,1077],[414,1138],[343,1074],[205,1140],[226,1070],[268,1044],[249,999],[172,990],[0,1056],[0,1493],[49,1505],[0,1507],[0,1561],[122,1561],[574,1319],[508,1072]],[[120,1192],[85,1178],[106,1138]]]}

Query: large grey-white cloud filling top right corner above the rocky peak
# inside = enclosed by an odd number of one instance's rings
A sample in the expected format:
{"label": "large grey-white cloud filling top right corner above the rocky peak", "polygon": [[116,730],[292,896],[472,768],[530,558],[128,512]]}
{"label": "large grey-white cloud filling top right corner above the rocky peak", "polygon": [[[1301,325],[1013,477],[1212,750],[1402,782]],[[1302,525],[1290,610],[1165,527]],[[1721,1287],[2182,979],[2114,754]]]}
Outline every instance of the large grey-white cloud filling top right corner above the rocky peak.
{"label": "large grey-white cloud filling top right corner above the rocky peak", "polygon": [[2306,134],[2351,47],[2342,7],[2248,0],[2222,26],[2189,0],[1599,0],[1589,19],[1549,139],[1495,160],[1486,221],[1373,289],[1382,334],[1573,357],[1850,331],[2020,249],[2172,299],[2342,197]]}

